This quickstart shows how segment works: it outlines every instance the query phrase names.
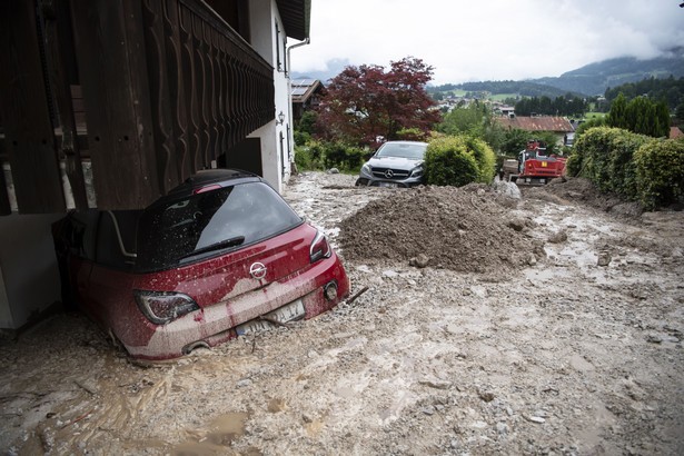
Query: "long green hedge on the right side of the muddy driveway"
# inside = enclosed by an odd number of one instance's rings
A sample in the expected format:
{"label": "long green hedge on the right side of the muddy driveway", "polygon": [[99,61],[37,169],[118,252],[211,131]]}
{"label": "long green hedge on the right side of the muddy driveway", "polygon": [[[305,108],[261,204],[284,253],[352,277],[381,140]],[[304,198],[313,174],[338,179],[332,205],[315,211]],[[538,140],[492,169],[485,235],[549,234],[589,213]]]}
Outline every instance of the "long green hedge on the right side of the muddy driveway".
{"label": "long green hedge on the right side of the muddy driveway", "polygon": [[684,140],[592,128],[577,139],[566,166],[568,176],[582,171],[602,191],[641,200],[647,209],[682,202]]}

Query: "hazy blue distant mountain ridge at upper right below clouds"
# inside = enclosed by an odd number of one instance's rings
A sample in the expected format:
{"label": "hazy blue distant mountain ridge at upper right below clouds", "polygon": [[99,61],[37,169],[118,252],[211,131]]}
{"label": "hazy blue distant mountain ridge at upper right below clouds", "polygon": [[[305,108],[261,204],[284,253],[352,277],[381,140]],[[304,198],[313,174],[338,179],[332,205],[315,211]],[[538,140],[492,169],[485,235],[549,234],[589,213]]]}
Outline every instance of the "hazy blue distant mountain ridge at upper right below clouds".
{"label": "hazy blue distant mountain ridge at upper right below clouds", "polygon": [[589,63],[557,78],[531,79],[534,82],[555,87],[563,91],[585,95],[603,95],[608,87],[625,82],[636,82],[654,77],[656,79],[684,77],[684,47],[671,49],[662,57],[640,60],[635,57],[621,57]]}

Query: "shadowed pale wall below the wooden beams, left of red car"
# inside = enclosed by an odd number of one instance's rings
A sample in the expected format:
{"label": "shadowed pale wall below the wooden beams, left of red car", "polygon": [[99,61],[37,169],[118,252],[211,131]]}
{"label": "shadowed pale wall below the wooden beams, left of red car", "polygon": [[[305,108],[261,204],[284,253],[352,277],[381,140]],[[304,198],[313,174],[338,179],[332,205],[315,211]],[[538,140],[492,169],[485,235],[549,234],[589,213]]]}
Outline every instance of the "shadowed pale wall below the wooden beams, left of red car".
{"label": "shadowed pale wall below the wooden beams, left of red car", "polygon": [[0,328],[18,329],[61,300],[51,225],[63,214],[0,217]]}

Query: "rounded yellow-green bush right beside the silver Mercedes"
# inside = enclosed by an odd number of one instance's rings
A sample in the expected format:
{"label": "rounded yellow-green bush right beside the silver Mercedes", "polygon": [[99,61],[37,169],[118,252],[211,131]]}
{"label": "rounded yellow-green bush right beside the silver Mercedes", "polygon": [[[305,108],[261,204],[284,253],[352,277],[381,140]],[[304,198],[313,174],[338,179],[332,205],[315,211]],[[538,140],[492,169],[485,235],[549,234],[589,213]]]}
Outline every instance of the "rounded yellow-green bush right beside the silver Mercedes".
{"label": "rounded yellow-green bush right beside the silver Mercedes", "polygon": [[482,139],[444,136],[429,141],[423,162],[427,185],[460,187],[492,181],[496,157]]}

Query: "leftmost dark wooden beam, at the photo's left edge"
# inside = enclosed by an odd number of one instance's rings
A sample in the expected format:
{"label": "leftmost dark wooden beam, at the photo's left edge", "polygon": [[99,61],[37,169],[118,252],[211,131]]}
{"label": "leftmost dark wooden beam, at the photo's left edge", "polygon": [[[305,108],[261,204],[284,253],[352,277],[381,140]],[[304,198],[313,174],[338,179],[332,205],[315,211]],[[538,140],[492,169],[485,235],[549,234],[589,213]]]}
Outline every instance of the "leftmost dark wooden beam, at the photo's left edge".
{"label": "leftmost dark wooden beam, at the photo's left edge", "polygon": [[[61,212],[66,209],[65,196],[36,14],[32,1],[0,2],[0,110],[4,146],[19,211]],[[7,195],[0,194],[0,211],[6,211]]]}

